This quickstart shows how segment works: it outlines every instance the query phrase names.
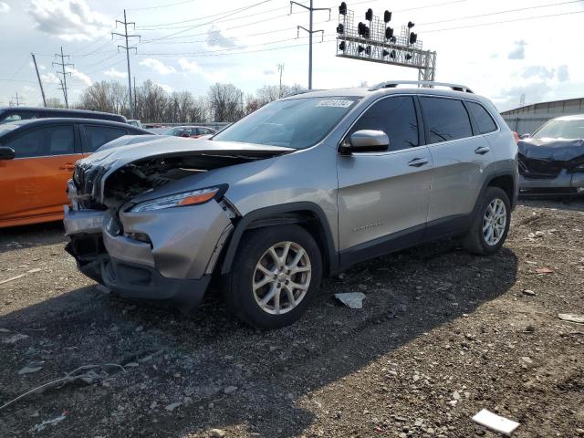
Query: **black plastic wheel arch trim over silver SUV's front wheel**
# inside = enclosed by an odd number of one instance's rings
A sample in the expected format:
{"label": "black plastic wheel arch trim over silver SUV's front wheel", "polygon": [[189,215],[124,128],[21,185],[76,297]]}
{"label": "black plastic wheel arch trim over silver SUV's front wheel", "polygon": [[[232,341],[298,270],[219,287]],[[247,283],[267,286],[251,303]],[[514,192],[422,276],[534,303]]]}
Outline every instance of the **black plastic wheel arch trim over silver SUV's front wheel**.
{"label": "black plastic wheel arch trim over silver SUV's front wheel", "polygon": [[335,249],[326,214],[316,203],[301,202],[260,208],[239,219],[224,252],[221,275],[231,272],[235,253],[246,231],[281,224],[298,224],[305,228],[320,248],[324,274],[331,275],[338,272],[339,255]]}

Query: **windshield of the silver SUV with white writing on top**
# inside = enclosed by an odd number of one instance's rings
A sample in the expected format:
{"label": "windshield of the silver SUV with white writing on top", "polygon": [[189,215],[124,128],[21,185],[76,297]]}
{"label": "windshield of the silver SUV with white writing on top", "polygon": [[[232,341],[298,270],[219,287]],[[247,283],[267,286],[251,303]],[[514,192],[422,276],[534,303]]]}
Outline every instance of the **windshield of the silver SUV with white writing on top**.
{"label": "windshield of the silver SUV with white writing on top", "polygon": [[305,149],[324,139],[359,99],[277,100],[225,128],[213,140]]}

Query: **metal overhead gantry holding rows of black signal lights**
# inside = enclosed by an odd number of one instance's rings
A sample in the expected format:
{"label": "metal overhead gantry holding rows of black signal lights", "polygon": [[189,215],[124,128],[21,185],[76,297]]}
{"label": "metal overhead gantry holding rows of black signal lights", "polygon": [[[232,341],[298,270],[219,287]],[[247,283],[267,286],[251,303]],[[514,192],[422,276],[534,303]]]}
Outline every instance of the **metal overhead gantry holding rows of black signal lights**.
{"label": "metal overhead gantry holding rows of black signal lights", "polygon": [[385,11],[381,20],[368,9],[365,13],[368,24],[360,22],[355,26],[353,11],[349,11],[347,4],[342,2],[337,26],[337,56],[417,68],[419,80],[433,81],[436,76],[436,52],[422,49],[418,34],[412,32],[414,23],[410,21],[407,26],[401,26],[400,35],[395,35],[393,27],[389,26],[390,21],[390,11]]}

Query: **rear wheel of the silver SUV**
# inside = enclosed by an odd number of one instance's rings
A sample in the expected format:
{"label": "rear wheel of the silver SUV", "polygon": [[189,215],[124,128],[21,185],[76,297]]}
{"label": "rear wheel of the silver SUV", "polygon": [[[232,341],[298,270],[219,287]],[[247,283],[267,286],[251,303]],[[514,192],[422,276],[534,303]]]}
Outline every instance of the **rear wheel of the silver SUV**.
{"label": "rear wheel of the silver SUV", "polygon": [[495,254],[509,232],[511,203],[505,191],[498,187],[488,187],[479,203],[473,224],[464,235],[463,245],[473,254]]}

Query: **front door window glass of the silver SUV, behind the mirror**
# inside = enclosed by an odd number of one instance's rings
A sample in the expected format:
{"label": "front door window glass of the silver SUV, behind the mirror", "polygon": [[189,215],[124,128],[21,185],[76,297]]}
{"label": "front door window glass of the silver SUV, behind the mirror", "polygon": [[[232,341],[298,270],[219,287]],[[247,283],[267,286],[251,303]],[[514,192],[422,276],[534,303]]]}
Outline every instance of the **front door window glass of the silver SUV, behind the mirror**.
{"label": "front door window glass of the silver SUV, behind the mirror", "polygon": [[411,96],[395,96],[375,102],[357,120],[349,135],[357,130],[382,130],[390,138],[388,151],[418,146],[418,119]]}

